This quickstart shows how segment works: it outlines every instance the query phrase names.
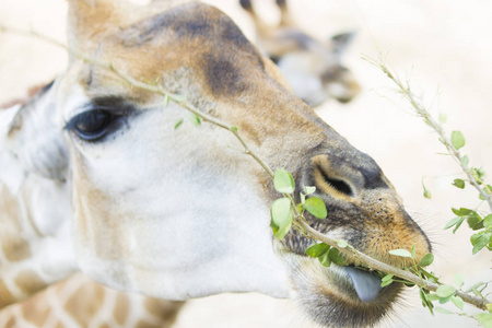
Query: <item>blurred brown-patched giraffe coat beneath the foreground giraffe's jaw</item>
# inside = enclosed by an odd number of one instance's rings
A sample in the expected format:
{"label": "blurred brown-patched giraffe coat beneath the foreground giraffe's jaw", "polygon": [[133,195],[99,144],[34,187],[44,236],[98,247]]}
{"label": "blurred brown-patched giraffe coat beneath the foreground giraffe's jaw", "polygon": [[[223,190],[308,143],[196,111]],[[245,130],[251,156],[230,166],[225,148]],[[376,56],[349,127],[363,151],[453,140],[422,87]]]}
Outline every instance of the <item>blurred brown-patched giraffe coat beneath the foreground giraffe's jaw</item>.
{"label": "blurred brown-patched giraffe coat beneath the foreground giraffe's jaw", "polygon": [[83,273],[0,312],[0,327],[169,328],[185,302],[118,292]]}

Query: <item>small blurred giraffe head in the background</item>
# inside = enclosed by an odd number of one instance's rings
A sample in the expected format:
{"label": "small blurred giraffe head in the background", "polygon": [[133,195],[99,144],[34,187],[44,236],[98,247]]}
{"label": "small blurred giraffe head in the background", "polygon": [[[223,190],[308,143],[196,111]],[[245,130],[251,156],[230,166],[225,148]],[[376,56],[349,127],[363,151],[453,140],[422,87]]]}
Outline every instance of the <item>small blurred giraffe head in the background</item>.
{"label": "small blurred giraffe head in the background", "polygon": [[348,103],[361,92],[356,78],[341,62],[353,32],[320,42],[295,24],[286,0],[276,0],[280,9],[277,26],[267,24],[258,16],[251,0],[239,2],[253,19],[258,46],[279,66],[294,94],[307,105],[316,107],[328,98]]}

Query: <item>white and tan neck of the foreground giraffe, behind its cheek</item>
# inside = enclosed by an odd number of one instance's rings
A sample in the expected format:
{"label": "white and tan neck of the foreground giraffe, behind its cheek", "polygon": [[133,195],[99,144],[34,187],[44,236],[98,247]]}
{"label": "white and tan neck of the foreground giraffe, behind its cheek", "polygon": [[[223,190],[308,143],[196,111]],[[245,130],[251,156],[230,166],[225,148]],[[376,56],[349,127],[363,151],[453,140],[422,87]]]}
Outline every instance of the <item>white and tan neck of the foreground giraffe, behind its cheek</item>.
{"label": "white and tan neck of the foreground giraffe, behind its cheek", "polygon": [[[15,110],[2,110],[0,122]],[[30,173],[21,164],[0,142],[0,308],[77,268],[66,184]]]}

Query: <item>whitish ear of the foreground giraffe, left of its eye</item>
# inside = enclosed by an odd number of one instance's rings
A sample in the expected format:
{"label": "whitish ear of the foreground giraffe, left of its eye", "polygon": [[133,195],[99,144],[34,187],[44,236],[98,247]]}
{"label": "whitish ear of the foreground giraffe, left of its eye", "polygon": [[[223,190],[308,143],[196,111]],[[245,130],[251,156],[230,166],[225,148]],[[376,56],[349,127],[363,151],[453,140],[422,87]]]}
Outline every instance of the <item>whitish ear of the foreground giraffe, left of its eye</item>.
{"label": "whitish ear of the foreground giraffe, left of its eye", "polygon": [[55,94],[51,83],[24,105],[2,113],[0,147],[13,153],[25,171],[65,180],[68,150],[56,119]]}

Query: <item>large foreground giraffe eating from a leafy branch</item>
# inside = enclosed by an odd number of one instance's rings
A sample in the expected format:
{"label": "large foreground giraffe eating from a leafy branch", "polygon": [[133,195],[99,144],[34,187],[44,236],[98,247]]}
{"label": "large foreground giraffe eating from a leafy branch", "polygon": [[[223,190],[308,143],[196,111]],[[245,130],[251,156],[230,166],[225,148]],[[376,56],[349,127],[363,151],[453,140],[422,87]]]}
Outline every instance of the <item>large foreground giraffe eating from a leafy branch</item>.
{"label": "large foreground giraffe eating from a leafy branch", "polygon": [[[307,221],[327,236],[397,267],[407,262],[390,249],[415,245],[417,259],[431,250],[375,161],[295,97],[218,9],[70,0],[68,43],[236,126],[269,166],[293,173],[296,194],[317,188],[329,219]],[[291,297],[329,327],[371,326],[387,315],[400,284],[380,289],[353,258],[349,267],[320,266],[305,255],[313,241],[295,230],[274,239],[270,203],[280,195],[265,171],[213,125],[173,129],[187,112],[163,104],[72,55],[38,97],[1,113],[0,162],[9,167],[0,173],[1,209],[13,210],[12,225],[31,229],[1,230],[11,233],[1,238],[11,241],[3,255],[28,249],[2,262],[10,303],[32,295],[26,286],[36,278],[39,290],[82,271],[112,289],[165,300]],[[19,281],[21,270],[35,278]]]}

